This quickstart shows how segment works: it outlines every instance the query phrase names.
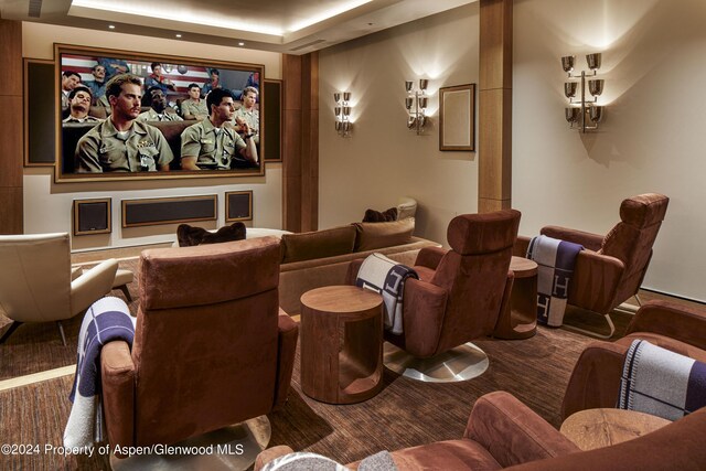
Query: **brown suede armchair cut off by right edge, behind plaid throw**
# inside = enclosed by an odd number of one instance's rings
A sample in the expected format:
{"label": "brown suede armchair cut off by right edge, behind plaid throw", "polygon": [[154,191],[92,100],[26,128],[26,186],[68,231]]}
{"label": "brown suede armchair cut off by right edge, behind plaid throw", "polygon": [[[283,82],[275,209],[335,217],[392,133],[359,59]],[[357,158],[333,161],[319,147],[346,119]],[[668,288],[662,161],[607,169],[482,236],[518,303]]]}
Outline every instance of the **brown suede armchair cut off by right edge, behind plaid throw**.
{"label": "brown suede armchair cut off by right edge, behind plaid throw", "polygon": [[706,362],[706,310],[650,301],[638,310],[624,338],[588,345],[566,388],[564,418],[584,409],[616,407],[623,361],[635,339]]}

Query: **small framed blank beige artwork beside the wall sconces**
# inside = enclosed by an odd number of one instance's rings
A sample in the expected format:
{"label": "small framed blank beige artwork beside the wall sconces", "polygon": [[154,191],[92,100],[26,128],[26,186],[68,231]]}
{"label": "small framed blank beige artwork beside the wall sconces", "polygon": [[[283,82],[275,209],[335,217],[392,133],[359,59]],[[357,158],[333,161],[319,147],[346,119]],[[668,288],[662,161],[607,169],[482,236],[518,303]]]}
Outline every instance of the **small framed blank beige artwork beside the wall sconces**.
{"label": "small framed blank beige artwork beside the wall sconces", "polygon": [[475,150],[475,84],[439,89],[439,150]]}

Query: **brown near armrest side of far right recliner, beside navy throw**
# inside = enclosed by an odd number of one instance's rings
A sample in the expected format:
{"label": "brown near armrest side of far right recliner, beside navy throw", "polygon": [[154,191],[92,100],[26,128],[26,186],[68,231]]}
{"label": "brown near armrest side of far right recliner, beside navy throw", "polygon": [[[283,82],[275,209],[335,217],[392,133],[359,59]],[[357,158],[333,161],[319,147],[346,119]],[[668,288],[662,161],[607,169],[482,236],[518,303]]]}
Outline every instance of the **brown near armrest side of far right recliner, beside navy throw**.
{"label": "brown near armrest side of far right recliner, beside navy throw", "polygon": [[618,287],[625,265],[618,258],[581,250],[576,257],[574,277],[569,283],[569,304],[607,314],[619,304]]}

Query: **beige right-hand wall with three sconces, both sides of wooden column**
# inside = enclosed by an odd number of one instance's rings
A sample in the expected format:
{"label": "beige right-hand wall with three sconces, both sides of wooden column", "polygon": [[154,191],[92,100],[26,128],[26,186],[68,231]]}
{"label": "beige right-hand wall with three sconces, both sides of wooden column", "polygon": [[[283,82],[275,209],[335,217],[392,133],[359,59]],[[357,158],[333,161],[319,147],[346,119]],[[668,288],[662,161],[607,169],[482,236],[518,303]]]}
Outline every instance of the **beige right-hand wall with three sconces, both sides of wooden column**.
{"label": "beige right-hand wall with three sconces, both sides of wooden column", "polygon": [[[706,300],[706,3],[703,0],[514,2],[513,206],[521,233],[547,224],[603,233],[620,202],[671,197],[644,286]],[[419,200],[417,234],[446,242],[446,225],[478,206],[477,153],[439,152],[438,116],[425,136],[405,128],[403,81],[431,88],[478,82],[478,4],[322,51],[320,226]],[[609,105],[593,133],[569,130],[559,57],[603,53]],[[355,129],[333,129],[334,89],[349,89]],[[438,106],[437,96],[431,99]]]}

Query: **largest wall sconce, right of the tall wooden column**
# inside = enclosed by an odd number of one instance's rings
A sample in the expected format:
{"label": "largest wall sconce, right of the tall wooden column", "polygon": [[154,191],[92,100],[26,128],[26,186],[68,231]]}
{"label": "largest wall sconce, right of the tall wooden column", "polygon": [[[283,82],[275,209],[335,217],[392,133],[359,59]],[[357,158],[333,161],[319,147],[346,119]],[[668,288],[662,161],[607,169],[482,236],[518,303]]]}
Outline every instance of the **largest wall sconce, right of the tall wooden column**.
{"label": "largest wall sconce, right of the tall wooden column", "polygon": [[[587,81],[586,71],[581,71],[580,75],[571,74],[575,58],[576,56],[573,55],[561,57],[561,68],[568,74],[568,77],[581,79],[580,82],[566,82],[564,84],[564,96],[569,99],[569,105],[574,105],[565,108],[564,114],[571,128],[574,128],[574,125],[577,125],[577,128],[581,132],[586,132],[586,130],[598,129],[598,124],[603,117],[603,107],[598,105],[598,97],[603,93],[605,81],[602,78],[591,78]],[[592,74],[589,73],[589,76],[596,76],[598,74],[597,71],[600,68],[600,53],[586,55],[588,68],[592,71]],[[587,82],[588,93],[590,93],[592,99],[587,99],[586,97]],[[580,99],[576,98],[579,86],[581,94]]]}

